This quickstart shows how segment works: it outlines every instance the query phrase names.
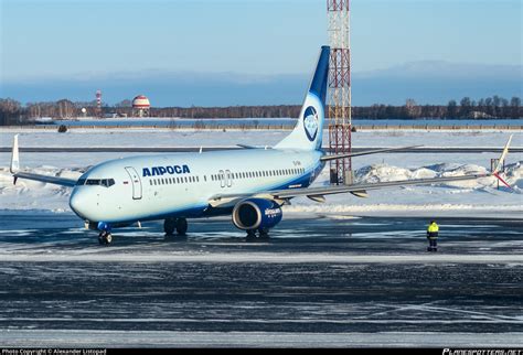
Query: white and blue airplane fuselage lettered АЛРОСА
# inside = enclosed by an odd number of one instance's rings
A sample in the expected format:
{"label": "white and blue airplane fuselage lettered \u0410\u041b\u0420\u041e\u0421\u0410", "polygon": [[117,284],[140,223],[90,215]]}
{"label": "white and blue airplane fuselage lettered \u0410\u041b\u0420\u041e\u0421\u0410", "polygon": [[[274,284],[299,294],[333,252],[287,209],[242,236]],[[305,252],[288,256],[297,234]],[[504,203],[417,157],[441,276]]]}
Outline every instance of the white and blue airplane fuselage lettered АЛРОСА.
{"label": "white and blue airplane fuselage lettered \u0410\u041b\u0420\u041e\u0421\u0410", "polygon": [[309,186],[323,169],[321,151],[247,149],[169,153],[107,161],[74,187],[70,205],[83,219],[132,223],[230,214],[216,195]]}

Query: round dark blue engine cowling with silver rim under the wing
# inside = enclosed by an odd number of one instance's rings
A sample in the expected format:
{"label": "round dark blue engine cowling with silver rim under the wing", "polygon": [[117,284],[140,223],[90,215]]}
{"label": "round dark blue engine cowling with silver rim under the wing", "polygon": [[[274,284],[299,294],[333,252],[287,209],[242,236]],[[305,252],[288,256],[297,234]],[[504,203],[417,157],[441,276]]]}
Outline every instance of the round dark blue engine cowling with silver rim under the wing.
{"label": "round dark blue engine cowling with silver rim under the wing", "polygon": [[281,208],[276,202],[264,198],[241,201],[233,209],[234,225],[244,230],[273,228],[282,216]]}

